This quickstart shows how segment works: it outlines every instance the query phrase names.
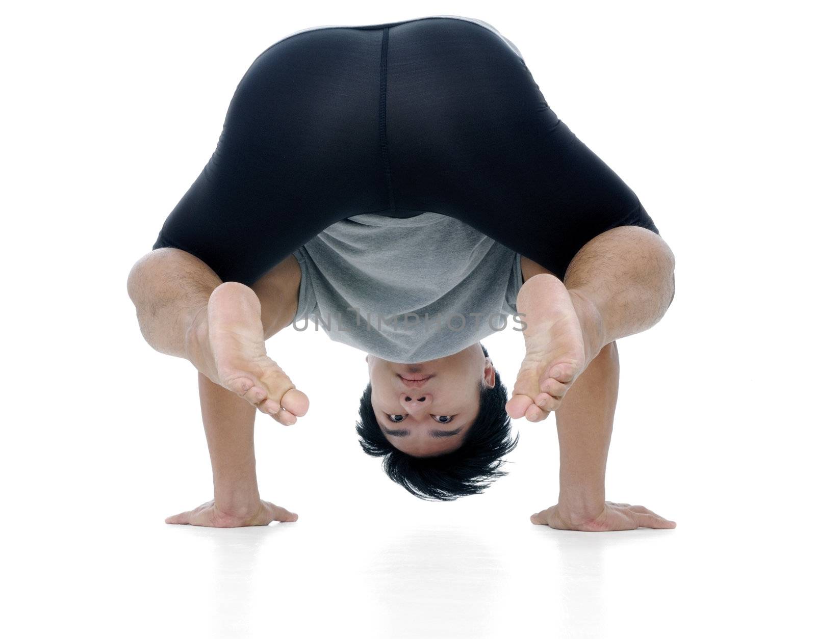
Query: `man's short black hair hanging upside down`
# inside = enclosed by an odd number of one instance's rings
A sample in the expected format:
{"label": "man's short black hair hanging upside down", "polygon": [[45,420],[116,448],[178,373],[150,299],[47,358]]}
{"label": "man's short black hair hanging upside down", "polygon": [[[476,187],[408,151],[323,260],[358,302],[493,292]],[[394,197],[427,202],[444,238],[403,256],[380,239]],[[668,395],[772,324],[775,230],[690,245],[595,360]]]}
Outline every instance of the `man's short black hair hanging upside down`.
{"label": "man's short black hair hanging upside down", "polygon": [[[480,344],[481,346],[481,344]],[[487,356],[487,350],[481,346]],[[504,409],[507,388],[495,373],[493,388],[479,382],[479,413],[459,448],[442,455],[418,457],[402,452],[385,437],[371,406],[371,382],[360,398],[357,434],[367,455],[383,457],[383,469],[392,481],[412,495],[429,501],[453,501],[478,495],[495,479],[507,473],[499,470],[507,455],[518,444],[511,439],[510,416]]]}

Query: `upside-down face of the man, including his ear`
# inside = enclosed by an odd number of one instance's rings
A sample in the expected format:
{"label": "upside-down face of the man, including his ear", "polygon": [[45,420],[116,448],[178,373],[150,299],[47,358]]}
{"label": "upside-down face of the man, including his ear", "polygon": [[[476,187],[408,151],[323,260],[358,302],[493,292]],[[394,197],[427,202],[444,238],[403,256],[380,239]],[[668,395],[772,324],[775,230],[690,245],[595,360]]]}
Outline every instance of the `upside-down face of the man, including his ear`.
{"label": "upside-down face of the man, including his ear", "polygon": [[479,343],[454,355],[418,364],[396,364],[366,355],[371,407],[385,438],[408,455],[455,451],[479,412],[481,386],[495,371]]}

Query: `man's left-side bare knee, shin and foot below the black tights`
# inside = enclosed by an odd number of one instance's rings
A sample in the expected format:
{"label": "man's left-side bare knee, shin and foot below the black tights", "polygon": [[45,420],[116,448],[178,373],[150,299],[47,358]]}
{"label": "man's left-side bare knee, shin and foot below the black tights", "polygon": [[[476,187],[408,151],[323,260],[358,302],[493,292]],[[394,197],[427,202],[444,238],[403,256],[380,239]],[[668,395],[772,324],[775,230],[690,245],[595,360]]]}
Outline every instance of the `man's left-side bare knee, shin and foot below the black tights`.
{"label": "man's left-side bare knee, shin and foot below the black tights", "polygon": [[[287,277],[291,259],[278,265]],[[142,334],[156,350],[188,359],[215,384],[283,424],[294,423],[295,416],[308,410],[306,395],[295,389],[264,346],[268,327],[282,323],[290,301],[264,306],[251,287],[222,282],[200,259],[171,247],[155,249],[136,262],[127,290]],[[291,287],[287,293],[292,297]]]}

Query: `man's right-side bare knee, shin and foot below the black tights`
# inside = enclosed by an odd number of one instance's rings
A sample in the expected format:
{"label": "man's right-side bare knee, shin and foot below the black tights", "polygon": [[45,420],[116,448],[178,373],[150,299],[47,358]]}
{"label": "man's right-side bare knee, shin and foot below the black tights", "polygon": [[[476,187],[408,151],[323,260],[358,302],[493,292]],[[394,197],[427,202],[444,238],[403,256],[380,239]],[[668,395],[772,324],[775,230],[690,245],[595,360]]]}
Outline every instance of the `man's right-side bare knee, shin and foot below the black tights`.
{"label": "man's right-side bare knee, shin and foot below the black tights", "polygon": [[615,227],[583,245],[563,282],[544,272],[526,280],[517,308],[527,354],[508,414],[543,420],[601,348],[656,324],[674,297],[674,263],[658,234]]}

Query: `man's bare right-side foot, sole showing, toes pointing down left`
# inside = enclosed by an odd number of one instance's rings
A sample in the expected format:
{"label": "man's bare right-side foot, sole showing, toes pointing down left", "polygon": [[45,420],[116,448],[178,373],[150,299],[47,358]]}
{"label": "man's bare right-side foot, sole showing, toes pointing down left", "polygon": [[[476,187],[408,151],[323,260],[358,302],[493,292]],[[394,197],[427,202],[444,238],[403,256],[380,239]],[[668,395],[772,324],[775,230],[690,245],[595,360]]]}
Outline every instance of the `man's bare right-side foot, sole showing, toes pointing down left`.
{"label": "man's bare right-side foot, sole showing, toes pointing down left", "polygon": [[517,299],[527,354],[505,408],[513,419],[541,421],[601,350],[601,317],[592,302],[555,275],[527,280]]}

